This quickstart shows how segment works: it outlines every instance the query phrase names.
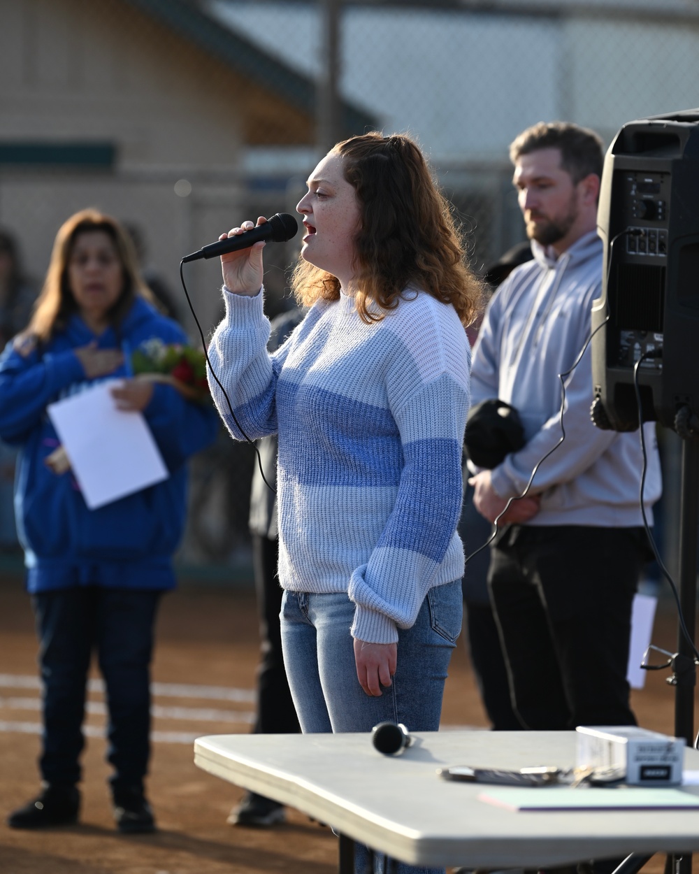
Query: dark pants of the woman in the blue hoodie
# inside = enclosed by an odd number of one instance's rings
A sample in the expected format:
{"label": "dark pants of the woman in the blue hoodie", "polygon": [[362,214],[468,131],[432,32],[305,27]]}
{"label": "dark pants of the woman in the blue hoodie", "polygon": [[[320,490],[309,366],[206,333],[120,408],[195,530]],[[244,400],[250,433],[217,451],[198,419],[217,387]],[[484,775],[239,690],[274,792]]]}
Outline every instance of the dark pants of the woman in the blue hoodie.
{"label": "dark pants of the woman in the blue hoodie", "polygon": [[106,685],[113,790],[142,788],[148,770],[149,665],[159,592],[80,586],[33,596],[44,682],[39,760],[49,783],[80,780],[87,671],[96,649]]}

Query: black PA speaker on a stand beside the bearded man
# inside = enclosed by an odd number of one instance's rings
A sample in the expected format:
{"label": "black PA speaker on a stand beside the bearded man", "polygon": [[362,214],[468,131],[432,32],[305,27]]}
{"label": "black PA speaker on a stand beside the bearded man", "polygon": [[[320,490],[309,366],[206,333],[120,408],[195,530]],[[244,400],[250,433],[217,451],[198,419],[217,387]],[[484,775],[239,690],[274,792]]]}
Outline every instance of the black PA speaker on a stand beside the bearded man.
{"label": "black PA speaker on a stand beside the bearded man", "polygon": [[592,420],[634,431],[699,413],[699,109],[630,121],[599,197],[602,296],[593,302]]}

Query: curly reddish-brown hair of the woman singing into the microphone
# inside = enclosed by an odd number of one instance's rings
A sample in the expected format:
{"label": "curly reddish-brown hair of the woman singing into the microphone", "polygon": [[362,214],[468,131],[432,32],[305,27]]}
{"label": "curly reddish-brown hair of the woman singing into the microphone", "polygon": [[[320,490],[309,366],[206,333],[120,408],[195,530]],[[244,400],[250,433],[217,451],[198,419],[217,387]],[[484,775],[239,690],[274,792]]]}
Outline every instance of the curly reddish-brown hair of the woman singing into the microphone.
{"label": "curly reddish-brown hair of the woman singing into the microphone", "polygon": [[[342,157],[359,201],[355,300],[363,322],[380,321],[410,287],[451,303],[464,325],[472,323],[481,281],[467,267],[450,205],[418,145],[402,134],[372,132],[338,142],[330,154]],[[336,276],[301,259],[292,288],[304,306],[340,296]]]}

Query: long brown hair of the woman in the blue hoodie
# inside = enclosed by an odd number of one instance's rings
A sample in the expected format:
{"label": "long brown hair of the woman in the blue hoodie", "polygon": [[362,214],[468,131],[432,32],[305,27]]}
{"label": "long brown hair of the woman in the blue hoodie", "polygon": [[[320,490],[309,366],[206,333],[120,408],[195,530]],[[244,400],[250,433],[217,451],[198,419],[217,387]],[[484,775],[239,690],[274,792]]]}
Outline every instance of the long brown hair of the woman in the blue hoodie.
{"label": "long brown hair of the woman in the blue hoodie", "polygon": [[81,210],[68,218],[56,234],[44,287],[38,295],[31,321],[23,336],[35,336],[45,343],[56,331],[65,328],[70,316],[77,312],[78,305],[68,283],[68,265],[75,240],[81,233],[93,231],[103,231],[112,239],[124,276],[119,300],[109,313],[110,323],[114,327],[121,324],[135,297],[153,301],[153,295],[142,280],[134,244],[123,225],[99,210]]}

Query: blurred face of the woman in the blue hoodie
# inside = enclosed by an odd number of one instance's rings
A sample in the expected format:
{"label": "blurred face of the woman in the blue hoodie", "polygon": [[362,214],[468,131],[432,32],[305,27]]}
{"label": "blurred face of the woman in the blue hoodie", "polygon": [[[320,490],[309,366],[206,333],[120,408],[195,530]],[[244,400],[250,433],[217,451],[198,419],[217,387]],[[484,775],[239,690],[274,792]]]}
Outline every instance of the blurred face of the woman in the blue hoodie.
{"label": "blurred face of the woman in the blue hoodie", "polygon": [[107,319],[124,287],[119,253],[107,232],[78,234],[68,260],[68,284],[80,315],[88,323]]}

